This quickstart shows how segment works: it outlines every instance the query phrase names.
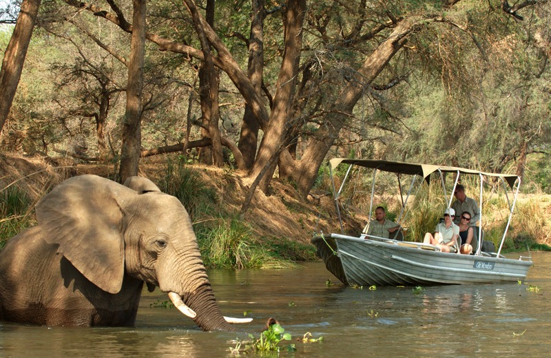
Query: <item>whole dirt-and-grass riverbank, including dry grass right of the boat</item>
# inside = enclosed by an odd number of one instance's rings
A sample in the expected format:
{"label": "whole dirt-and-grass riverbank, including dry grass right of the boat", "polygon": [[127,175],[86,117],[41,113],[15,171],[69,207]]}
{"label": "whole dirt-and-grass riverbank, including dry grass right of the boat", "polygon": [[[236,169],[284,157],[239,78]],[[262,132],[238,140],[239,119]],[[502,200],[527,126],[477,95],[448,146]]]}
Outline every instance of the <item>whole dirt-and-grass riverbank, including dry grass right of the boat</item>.
{"label": "whole dirt-and-grass riverbank, including dry grass right of the boat", "polygon": [[[34,203],[52,186],[67,177],[83,174],[114,178],[116,168],[110,164],[0,153],[1,192],[6,194],[17,188],[16,196],[21,197],[24,193],[28,205],[18,213],[0,212],[0,223],[4,225],[0,241],[34,224]],[[270,268],[284,267],[286,262],[315,260],[311,237],[317,232],[340,230],[329,181],[315,188],[309,200],[304,201],[298,199],[291,183],[275,179],[269,195],[256,190],[250,208],[240,216],[238,213],[251,184],[240,172],[198,164],[184,165],[178,157],[158,156],[143,159],[140,175],[151,179],[164,191],[187,186],[187,192],[169,193],[185,196],[180,199],[194,221],[205,263],[211,267]],[[185,182],[181,182],[182,175],[187,175]],[[193,186],[189,183],[190,175],[194,179]],[[541,249],[548,248],[551,197],[523,195],[517,209],[507,249],[526,250],[527,246],[538,249],[538,245]],[[344,231],[358,235],[368,217],[353,206],[347,206],[342,213],[346,214]],[[9,215],[12,219],[8,219]],[[14,225],[14,218],[21,217],[23,222]],[[488,226],[501,225],[500,219],[499,215],[490,218]]]}

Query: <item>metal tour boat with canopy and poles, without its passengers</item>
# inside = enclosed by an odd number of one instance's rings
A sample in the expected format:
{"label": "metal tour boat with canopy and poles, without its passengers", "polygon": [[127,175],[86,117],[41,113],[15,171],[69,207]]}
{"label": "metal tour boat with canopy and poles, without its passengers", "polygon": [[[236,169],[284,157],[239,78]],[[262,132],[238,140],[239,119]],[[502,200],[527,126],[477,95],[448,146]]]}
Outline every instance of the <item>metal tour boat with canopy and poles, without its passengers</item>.
{"label": "metal tour boat with canopy and poles, without its passengers", "polygon": [[[340,188],[335,186],[333,172],[337,166],[348,164],[349,168]],[[339,201],[346,182],[351,176],[353,168],[363,167],[373,170],[373,187],[371,191],[371,207],[375,196],[375,178],[378,172],[395,173],[399,182],[399,197],[402,198],[402,208],[397,223],[404,221],[408,198],[414,188],[426,182],[430,184],[431,177],[439,176],[444,198],[450,207],[453,192],[459,183],[459,178],[465,175],[474,175],[479,178],[479,208],[482,212],[482,192],[484,182],[491,179],[503,186],[509,215],[504,228],[497,252],[495,245],[484,241],[482,220],[475,228],[479,242],[471,255],[454,252],[441,252],[437,246],[417,242],[402,241],[403,235],[395,235],[391,239],[360,234],[359,237],[346,235],[343,232],[342,217]],[[490,172],[481,172],[453,166],[437,166],[399,161],[384,161],[372,159],[344,159],[334,158],[329,161],[331,178],[333,179],[333,196],[337,214],[340,219],[340,233],[315,235],[311,242],[315,245],[318,255],[324,260],[325,266],[343,284],[349,286],[435,286],[449,284],[493,284],[503,282],[517,282],[526,279],[528,269],[532,266],[531,257],[519,256],[511,259],[501,255],[503,242],[512,219],[515,203],[519,194],[521,178],[517,175],[505,175]],[[453,175],[447,175],[452,173]],[[411,177],[409,190],[402,192],[402,177]],[[446,177],[455,177],[453,190],[446,195]],[[404,199],[405,195],[405,199]],[[481,214],[482,216],[482,214]],[[402,221],[400,221],[402,220]],[[402,228],[400,229],[402,230]],[[422,237],[419,237],[422,240]],[[475,245],[473,245],[475,246]]]}

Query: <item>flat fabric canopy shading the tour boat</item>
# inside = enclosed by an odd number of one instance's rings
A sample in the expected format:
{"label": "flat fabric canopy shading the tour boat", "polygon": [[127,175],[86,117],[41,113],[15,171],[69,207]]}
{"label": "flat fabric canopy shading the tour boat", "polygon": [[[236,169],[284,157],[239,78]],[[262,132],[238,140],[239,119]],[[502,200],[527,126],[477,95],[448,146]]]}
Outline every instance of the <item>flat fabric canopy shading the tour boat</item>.
{"label": "flat fabric canopy shading the tour boat", "polygon": [[519,179],[517,175],[513,174],[499,174],[490,172],[481,172],[479,170],[472,170],[466,168],[459,168],[454,166],[435,166],[431,164],[416,164],[416,163],[404,163],[401,161],[386,161],[375,159],[347,159],[347,158],[333,158],[329,161],[331,164],[331,170],[335,170],[341,163],[351,164],[355,166],[363,166],[365,168],[372,168],[381,170],[383,172],[394,172],[399,174],[408,175],[420,175],[426,181],[429,181],[429,177],[433,172],[459,172],[462,174],[471,175],[486,175],[489,177],[501,178],[509,184],[510,188],[514,186],[514,182]]}

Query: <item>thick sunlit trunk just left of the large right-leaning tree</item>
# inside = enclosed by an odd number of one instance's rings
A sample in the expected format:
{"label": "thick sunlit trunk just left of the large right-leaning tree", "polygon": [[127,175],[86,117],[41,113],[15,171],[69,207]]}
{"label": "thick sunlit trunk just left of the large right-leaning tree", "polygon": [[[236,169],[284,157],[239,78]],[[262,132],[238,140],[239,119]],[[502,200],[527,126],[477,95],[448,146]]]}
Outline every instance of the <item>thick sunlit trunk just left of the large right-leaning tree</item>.
{"label": "thick sunlit trunk just left of the large right-leaning tree", "polygon": [[[276,84],[270,120],[260,142],[256,162],[250,172],[253,177],[257,177],[264,166],[268,165],[273,153],[284,146],[287,132],[293,124],[291,113],[302,50],[302,25],[306,12],[306,0],[287,0],[286,8],[283,61]],[[260,187],[264,192],[271,181],[273,170],[275,170],[275,164],[262,179]]]}

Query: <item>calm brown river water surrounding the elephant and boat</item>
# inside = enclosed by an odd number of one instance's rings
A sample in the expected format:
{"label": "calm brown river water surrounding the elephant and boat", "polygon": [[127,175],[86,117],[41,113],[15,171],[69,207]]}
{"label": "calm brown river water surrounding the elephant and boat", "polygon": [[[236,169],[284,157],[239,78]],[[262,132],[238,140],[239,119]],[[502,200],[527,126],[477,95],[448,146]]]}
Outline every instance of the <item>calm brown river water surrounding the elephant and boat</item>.
{"label": "calm brown river water surrounding the elephant and boat", "polygon": [[[254,318],[241,328],[260,331],[275,317],[291,333],[293,341],[280,346],[293,343],[296,351],[279,357],[546,357],[551,253],[532,253],[532,259],[522,284],[420,290],[340,286],[321,262],[294,270],[210,270],[209,277],[225,315]],[[155,304],[164,301],[162,292],[145,290],[135,328],[0,323],[0,357],[235,357],[231,341],[247,339],[202,332],[178,310]],[[306,332],[323,341],[296,341]]]}

